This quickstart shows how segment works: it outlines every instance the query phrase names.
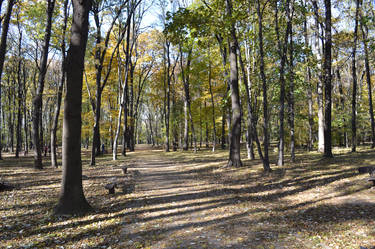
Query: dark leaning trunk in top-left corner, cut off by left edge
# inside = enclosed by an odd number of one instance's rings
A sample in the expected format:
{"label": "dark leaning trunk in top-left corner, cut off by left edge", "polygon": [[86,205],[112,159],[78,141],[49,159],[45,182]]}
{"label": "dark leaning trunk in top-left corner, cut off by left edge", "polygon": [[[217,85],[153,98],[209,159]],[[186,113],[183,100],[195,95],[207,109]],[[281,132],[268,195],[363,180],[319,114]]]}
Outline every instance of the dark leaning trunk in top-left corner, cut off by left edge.
{"label": "dark leaning trunk in top-left corner, cut off by left edge", "polygon": [[[8,36],[8,29],[9,29],[9,22],[10,22],[10,17],[11,17],[11,14],[12,14],[12,9],[13,9],[13,5],[15,3],[15,0],[9,0],[8,1],[8,7],[7,7],[7,11],[5,13],[5,17],[4,17],[4,21],[2,23],[2,32],[1,32],[1,43],[0,43],[0,82],[2,82],[2,75],[3,75],[3,68],[4,68],[4,61],[5,61],[5,54],[6,54],[6,47],[7,47],[7,36]],[[1,105],[1,96],[2,96],[2,93],[1,93],[1,84],[0,84],[0,105]],[[4,111],[2,109],[2,111]],[[0,117],[1,119],[1,117]],[[1,123],[1,122],[0,122]],[[1,152],[2,152],[2,148],[3,145],[2,145],[2,132],[1,132],[1,128],[0,128],[0,160],[2,159],[2,155],[1,155]]]}

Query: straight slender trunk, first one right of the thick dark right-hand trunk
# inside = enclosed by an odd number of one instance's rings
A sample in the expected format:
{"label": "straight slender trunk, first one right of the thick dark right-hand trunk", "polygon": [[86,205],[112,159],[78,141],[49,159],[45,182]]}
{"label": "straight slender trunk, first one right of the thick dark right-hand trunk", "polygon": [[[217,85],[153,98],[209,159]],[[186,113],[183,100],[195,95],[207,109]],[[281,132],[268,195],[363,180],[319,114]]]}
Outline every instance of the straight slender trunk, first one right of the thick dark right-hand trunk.
{"label": "straight slender trunk, first one right of the thick dark right-hand trunk", "polygon": [[[328,1],[328,0],[326,0]],[[357,66],[356,66],[356,54],[357,54],[357,39],[358,39],[358,17],[359,17],[359,0],[356,1],[356,12],[355,12],[355,25],[354,25],[354,41],[352,50],[352,152],[357,149]]]}

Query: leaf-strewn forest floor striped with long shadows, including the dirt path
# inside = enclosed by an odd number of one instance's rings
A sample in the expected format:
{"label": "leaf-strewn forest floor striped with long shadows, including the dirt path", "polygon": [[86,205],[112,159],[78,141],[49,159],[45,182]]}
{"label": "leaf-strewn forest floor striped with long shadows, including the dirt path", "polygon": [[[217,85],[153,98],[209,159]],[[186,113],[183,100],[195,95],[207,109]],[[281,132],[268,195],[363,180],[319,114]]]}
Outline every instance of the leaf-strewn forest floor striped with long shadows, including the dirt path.
{"label": "leaf-strewn forest floor striped with long shadows, including the dirt path", "polygon": [[[61,168],[45,158],[35,170],[31,157],[5,155],[0,180],[16,188],[0,193],[0,248],[371,248],[375,188],[357,168],[375,166],[375,151],[334,153],[300,151],[295,163],[264,174],[259,160],[224,167],[222,150],[139,146],[94,167],[86,151],[83,186],[95,212],[64,217],[52,215]],[[124,164],[135,191],[109,195],[104,185],[124,178]]]}

